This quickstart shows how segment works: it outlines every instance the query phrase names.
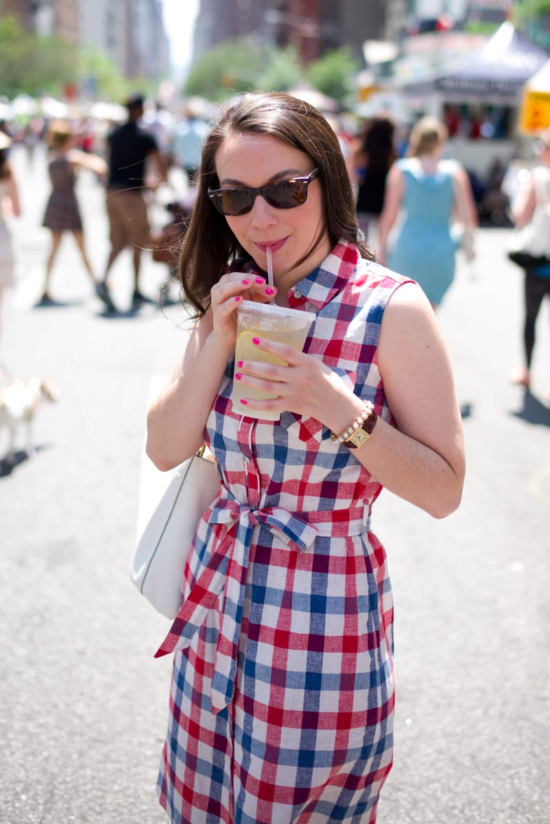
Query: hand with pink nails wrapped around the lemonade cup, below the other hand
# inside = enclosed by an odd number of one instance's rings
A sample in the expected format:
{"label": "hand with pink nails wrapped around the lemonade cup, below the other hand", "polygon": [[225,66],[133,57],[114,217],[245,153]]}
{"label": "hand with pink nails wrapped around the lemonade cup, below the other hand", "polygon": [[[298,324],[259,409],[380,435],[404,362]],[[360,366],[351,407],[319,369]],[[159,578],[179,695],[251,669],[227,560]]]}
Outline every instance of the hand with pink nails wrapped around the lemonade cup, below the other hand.
{"label": "hand with pink nails wrapped around the lemonade cup, below the other hand", "polygon": [[[235,366],[235,379],[243,387],[249,386],[277,396],[273,400],[247,400],[244,392],[246,403],[243,403],[243,408],[294,412],[313,417],[331,429],[338,428],[338,431],[345,426],[342,420],[349,422],[361,411],[361,401],[320,358],[261,336],[254,338],[254,344],[262,352],[277,355],[288,366],[253,360],[239,361]],[[352,414],[355,407],[358,407],[357,412]]]}

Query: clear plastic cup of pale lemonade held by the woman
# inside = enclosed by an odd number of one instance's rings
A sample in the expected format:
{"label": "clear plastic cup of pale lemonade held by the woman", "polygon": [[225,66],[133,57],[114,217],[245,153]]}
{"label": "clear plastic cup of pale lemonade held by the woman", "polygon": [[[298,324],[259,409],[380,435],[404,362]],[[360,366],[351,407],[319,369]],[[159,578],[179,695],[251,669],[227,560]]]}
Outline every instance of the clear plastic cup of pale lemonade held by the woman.
{"label": "clear plastic cup of pale lemonade held by the woman", "polygon": [[[301,352],[313,321],[315,321],[315,314],[310,311],[287,309],[270,303],[243,301],[237,310],[235,371],[239,371],[236,364],[241,360],[288,366],[287,361],[282,360],[282,358],[277,358],[276,355],[258,349],[252,343],[252,339],[268,338],[269,340],[278,340],[282,344],[293,346],[296,351]],[[278,420],[281,417],[280,411],[256,411],[240,403],[241,398],[247,398],[254,402],[254,400],[270,400],[276,397],[276,394],[251,389],[249,386],[243,386],[240,381],[233,380],[233,391],[231,392],[233,409],[247,418]]]}

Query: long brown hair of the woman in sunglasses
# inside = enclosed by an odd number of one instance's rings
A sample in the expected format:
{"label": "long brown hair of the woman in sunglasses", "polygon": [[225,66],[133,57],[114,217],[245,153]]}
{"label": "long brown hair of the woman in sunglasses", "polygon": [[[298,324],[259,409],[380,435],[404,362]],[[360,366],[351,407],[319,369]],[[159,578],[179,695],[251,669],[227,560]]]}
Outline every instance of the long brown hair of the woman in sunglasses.
{"label": "long brown hair of the woman in sunglasses", "polygon": [[208,188],[219,186],[217,150],[225,138],[234,133],[277,138],[305,152],[319,169],[324,193],[323,218],[314,245],[296,266],[319,246],[325,232],[331,248],[342,237],[357,245],[361,257],[374,260],[374,255],[359,239],[352,184],[338,138],[329,123],[313,106],[296,97],[279,92],[250,92],[226,105],[203,145],[197,199],[179,256],[179,280],[199,316],[206,311],[210,290],[231,260],[240,256],[249,259],[226,218],[208,198]]}

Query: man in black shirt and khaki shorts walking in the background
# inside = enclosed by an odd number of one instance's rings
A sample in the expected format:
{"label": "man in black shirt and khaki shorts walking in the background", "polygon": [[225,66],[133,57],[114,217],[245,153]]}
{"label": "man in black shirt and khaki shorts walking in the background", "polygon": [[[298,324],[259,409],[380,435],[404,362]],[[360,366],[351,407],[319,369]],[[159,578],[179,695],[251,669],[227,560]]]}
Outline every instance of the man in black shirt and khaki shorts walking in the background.
{"label": "man in black shirt and khaki shorts walking in the background", "polygon": [[126,246],[133,252],[132,308],[151,302],[140,289],[142,250],[151,248],[151,227],[147,202],[143,196],[147,164],[156,169],[154,184],[166,180],[165,158],[155,137],[143,129],[139,120],[143,115],[143,98],[133,95],[126,101],[128,121],[114,129],[107,138],[110,148],[109,182],[107,185],[107,214],[110,222],[110,254],[104,279],[98,284],[97,294],[109,311],[116,311],[110,295],[109,275],[114,261]]}

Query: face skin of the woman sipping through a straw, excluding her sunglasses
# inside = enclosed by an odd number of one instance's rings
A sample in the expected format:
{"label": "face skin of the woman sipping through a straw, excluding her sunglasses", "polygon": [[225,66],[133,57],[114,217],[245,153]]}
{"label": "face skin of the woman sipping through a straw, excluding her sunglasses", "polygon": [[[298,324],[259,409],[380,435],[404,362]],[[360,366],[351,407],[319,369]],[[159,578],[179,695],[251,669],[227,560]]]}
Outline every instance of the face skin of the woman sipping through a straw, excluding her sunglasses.
{"label": "face skin of the woman sipping through a straw, excluding her sunglasses", "polygon": [[[259,188],[279,180],[307,177],[314,163],[305,152],[268,135],[234,133],[216,152],[220,188]],[[296,208],[275,208],[258,195],[248,214],[226,217],[235,237],[256,263],[267,271],[267,249],[273,255],[273,276],[281,293],[309,274],[329,254],[326,232],[320,246],[297,269],[288,269],[310,250],[323,222],[323,189],[319,179],[308,186],[307,199]]]}

